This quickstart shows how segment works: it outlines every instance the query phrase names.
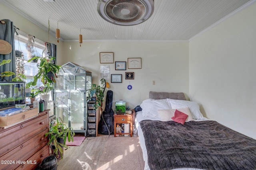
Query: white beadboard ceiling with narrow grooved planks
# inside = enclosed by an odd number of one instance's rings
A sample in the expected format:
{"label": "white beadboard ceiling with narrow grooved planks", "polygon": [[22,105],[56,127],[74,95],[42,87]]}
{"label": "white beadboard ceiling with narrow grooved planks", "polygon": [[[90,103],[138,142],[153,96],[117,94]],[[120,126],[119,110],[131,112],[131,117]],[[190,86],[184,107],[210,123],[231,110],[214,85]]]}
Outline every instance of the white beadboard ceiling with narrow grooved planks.
{"label": "white beadboard ceiling with narrow grooved planks", "polygon": [[98,0],[0,0],[46,31],[49,20],[50,32],[54,34],[58,26],[64,41],[78,40],[80,28],[86,40],[189,40],[254,2],[256,0],[154,0],[154,13],[147,21],[120,26],[100,17]]}

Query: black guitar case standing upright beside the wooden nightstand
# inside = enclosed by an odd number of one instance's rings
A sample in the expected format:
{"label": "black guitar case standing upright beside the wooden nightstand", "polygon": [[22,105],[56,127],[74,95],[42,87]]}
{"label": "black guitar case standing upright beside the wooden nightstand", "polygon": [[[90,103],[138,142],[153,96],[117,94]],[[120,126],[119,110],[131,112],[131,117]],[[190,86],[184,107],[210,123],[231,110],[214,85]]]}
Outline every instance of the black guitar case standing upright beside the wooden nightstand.
{"label": "black guitar case standing upright beside the wooden nightstand", "polygon": [[105,109],[100,115],[98,133],[101,135],[114,134],[114,111],[112,109],[113,92],[107,91]]}

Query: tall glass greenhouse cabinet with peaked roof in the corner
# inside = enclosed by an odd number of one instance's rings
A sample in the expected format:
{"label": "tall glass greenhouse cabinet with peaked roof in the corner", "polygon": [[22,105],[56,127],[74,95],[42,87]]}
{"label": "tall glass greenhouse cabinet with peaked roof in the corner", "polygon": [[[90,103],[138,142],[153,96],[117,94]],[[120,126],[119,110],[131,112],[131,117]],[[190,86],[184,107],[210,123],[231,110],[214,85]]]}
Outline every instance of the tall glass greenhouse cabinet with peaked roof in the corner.
{"label": "tall glass greenhouse cabinet with peaked roof in the corner", "polygon": [[86,135],[86,95],[92,86],[92,72],[68,62],[60,68],[54,89],[54,114],[76,133]]}

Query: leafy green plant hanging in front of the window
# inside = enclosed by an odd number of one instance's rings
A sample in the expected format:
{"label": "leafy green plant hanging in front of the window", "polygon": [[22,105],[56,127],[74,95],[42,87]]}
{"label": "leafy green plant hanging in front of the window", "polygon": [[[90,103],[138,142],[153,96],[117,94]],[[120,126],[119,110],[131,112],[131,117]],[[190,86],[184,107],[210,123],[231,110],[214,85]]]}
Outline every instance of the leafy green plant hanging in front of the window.
{"label": "leafy green plant hanging in front of the window", "polygon": [[43,84],[56,82],[56,78],[58,77],[57,74],[60,70],[59,65],[53,64],[54,57],[48,56],[48,57],[33,57],[32,59],[29,59],[28,62],[39,59],[40,63],[37,64],[38,67],[38,73],[34,76],[34,81],[32,85],[36,85],[37,80],[40,78],[41,82]]}

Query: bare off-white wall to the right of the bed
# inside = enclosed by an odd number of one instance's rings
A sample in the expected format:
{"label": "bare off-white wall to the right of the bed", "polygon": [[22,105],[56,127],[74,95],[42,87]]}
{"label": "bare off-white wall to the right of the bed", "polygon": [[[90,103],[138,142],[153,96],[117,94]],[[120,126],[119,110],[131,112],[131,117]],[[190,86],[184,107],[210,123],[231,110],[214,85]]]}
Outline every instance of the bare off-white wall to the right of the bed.
{"label": "bare off-white wall to the right of the bed", "polygon": [[189,43],[190,100],[256,139],[256,3]]}

